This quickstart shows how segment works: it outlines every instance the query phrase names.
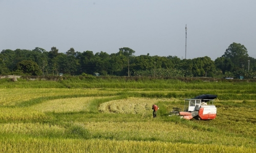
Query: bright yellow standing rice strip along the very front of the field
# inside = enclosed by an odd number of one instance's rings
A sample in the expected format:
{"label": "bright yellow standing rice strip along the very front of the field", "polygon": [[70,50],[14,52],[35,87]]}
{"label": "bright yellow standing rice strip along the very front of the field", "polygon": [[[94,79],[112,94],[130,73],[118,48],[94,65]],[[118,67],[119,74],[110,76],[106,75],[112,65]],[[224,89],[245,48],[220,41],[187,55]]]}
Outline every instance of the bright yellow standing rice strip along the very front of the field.
{"label": "bright yellow standing rice strip along the very front of the field", "polygon": [[77,139],[9,139],[0,142],[1,152],[255,152],[252,148],[160,141]]}

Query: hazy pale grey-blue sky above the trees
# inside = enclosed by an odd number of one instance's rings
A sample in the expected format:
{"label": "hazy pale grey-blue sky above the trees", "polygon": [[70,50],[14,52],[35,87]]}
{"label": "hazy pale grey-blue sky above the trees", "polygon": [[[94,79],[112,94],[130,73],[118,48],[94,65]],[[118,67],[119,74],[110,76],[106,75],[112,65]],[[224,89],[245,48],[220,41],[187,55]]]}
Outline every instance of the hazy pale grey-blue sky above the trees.
{"label": "hazy pale grey-blue sky above the trees", "polygon": [[55,46],[60,53],[221,57],[233,43],[256,58],[255,0],[0,0],[0,51]]}

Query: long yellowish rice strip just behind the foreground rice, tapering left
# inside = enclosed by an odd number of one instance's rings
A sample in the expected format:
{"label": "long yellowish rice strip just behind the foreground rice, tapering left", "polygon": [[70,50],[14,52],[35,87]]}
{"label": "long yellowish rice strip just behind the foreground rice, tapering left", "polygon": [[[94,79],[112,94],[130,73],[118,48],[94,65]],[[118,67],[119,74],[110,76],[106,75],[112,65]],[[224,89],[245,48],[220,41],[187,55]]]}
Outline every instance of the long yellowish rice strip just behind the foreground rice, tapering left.
{"label": "long yellowish rice strip just behind the foreground rice, tapering left", "polygon": [[101,137],[113,136],[112,138],[116,140],[138,139],[218,145],[225,143],[247,147],[256,145],[253,139],[247,139],[243,136],[232,137],[229,133],[218,136],[218,132],[191,129],[174,122],[84,122],[83,124],[75,124],[83,126]]}

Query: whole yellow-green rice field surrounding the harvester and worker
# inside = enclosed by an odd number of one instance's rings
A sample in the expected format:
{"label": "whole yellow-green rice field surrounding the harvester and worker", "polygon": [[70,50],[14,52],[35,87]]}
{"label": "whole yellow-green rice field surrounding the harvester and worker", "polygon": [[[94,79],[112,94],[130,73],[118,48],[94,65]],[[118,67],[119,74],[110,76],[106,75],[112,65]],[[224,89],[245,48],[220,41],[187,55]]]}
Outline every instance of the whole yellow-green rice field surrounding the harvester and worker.
{"label": "whole yellow-green rice field surrounding the harvester and worker", "polygon": [[[2,87],[0,152],[256,152],[256,84],[200,84]],[[184,108],[184,98],[200,94],[218,95],[215,120],[169,116],[173,107]]]}

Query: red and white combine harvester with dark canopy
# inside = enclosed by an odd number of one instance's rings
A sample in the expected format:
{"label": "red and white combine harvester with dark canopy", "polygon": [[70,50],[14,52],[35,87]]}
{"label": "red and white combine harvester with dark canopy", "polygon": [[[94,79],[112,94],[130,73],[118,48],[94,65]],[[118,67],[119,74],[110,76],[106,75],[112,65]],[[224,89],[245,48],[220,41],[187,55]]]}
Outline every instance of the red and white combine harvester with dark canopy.
{"label": "red and white combine harvester with dark canopy", "polygon": [[184,111],[180,111],[179,108],[173,108],[174,115],[179,115],[184,119],[215,119],[217,114],[217,108],[214,105],[214,99],[217,95],[203,94],[195,98],[185,99]]}

